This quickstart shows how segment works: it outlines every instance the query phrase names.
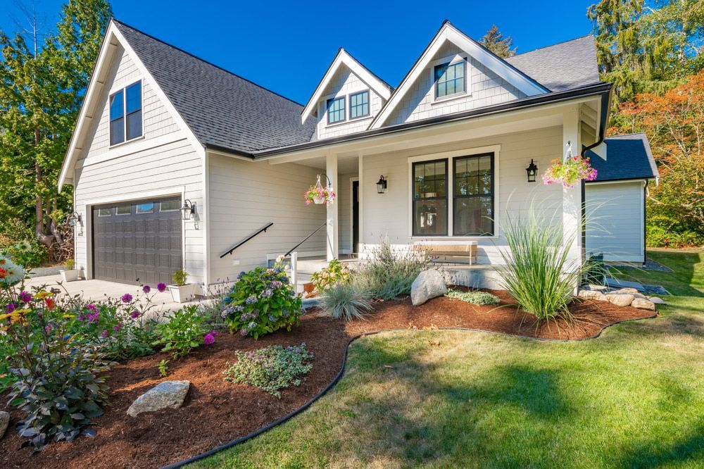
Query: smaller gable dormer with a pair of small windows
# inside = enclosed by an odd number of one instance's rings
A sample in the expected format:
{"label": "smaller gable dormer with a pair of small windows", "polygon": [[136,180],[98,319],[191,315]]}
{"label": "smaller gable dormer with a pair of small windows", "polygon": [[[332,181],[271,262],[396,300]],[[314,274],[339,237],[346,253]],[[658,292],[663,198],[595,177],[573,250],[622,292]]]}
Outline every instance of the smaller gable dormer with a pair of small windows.
{"label": "smaller gable dormer with a pair of small windows", "polygon": [[391,96],[391,87],[340,49],[301,113],[316,118],[318,139],[367,130]]}

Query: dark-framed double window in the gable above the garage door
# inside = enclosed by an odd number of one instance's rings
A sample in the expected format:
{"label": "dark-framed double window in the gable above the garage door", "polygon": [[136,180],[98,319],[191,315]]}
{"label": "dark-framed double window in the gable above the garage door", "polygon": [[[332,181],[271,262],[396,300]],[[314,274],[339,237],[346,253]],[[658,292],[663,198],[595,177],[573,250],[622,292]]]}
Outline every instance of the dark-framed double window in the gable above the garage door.
{"label": "dark-framed double window in the gable above the garage door", "polygon": [[142,137],[142,82],[110,95],[110,144]]}

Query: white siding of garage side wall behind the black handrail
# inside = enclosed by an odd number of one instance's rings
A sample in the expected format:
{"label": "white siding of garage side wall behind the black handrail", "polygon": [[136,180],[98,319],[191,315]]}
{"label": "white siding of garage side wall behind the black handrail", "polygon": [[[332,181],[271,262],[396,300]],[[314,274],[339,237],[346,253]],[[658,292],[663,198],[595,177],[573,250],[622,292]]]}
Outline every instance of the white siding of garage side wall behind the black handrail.
{"label": "white siding of garage side wall behind the black handrail", "polygon": [[[284,254],[325,223],[325,205],[306,205],[303,201],[303,193],[315,182],[319,169],[209,154],[208,170],[212,282],[232,280],[241,270],[264,265],[268,254]],[[274,225],[267,232],[220,258],[269,222]],[[297,251],[301,256],[325,253],[325,229]],[[236,261],[238,265],[234,265]]]}

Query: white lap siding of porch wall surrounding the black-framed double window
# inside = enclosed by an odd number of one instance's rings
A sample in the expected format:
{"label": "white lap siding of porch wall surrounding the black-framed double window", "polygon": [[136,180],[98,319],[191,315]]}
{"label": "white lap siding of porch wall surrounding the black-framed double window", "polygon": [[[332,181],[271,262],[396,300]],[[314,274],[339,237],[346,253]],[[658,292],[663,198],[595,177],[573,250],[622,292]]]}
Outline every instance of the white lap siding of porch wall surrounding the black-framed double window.
{"label": "white lap siding of porch wall surrounding the black-framed double window", "polygon": [[[500,145],[501,151],[495,163],[496,195],[494,206],[498,215],[495,232],[496,238],[489,237],[418,237],[414,238],[410,231],[410,175],[408,158],[428,156],[428,160],[439,158],[434,156],[441,151],[473,149],[482,146]],[[505,223],[506,213],[513,216],[527,210],[534,204],[543,211],[546,218],[552,218],[553,223],[562,223],[562,190],[557,186],[546,186],[541,182],[527,182],[525,168],[531,158],[540,170],[548,167],[551,160],[560,155],[562,147],[562,127],[550,127],[543,130],[517,132],[498,137],[487,137],[470,140],[453,146],[434,146],[404,152],[402,154],[384,154],[379,156],[364,156],[362,161],[362,228],[361,243],[363,251],[369,251],[384,237],[388,237],[392,245],[407,246],[413,242],[453,242],[463,240],[479,241],[479,261],[484,263],[501,263],[497,246],[505,245],[501,237],[501,223]],[[451,162],[448,170],[452,170]],[[389,181],[385,194],[377,194],[376,182],[382,174]],[[451,194],[450,194],[451,195]],[[554,218],[553,218],[554,217]]]}

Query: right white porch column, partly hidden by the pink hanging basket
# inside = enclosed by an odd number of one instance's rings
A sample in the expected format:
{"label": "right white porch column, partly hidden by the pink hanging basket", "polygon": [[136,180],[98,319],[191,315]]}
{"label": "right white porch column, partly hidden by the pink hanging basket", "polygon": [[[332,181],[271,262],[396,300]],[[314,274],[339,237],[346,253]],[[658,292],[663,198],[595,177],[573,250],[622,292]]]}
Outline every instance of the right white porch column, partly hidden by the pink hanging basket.
{"label": "right white porch column, partly hidden by the pink hanging basket", "polygon": [[[579,105],[574,105],[562,116],[562,155],[565,156],[568,142],[572,145],[572,156],[582,152],[579,138]],[[562,236],[569,243],[570,262],[582,258],[582,181],[574,187],[562,187]]]}

